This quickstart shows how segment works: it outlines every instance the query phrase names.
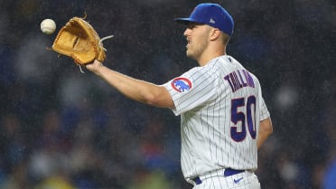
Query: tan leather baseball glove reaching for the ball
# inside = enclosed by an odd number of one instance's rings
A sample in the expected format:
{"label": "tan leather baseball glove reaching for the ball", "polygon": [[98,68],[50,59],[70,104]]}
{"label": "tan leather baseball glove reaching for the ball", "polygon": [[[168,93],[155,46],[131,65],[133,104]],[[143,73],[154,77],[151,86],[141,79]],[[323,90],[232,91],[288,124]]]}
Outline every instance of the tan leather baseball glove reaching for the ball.
{"label": "tan leather baseball glove reaching for the ball", "polygon": [[95,59],[98,61],[106,59],[106,49],[102,44],[105,39],[100,39],[96,30],[84,19],[71,18],[61,28],[52,44],[53,51],[71,57],[79,66],[91,63]]}

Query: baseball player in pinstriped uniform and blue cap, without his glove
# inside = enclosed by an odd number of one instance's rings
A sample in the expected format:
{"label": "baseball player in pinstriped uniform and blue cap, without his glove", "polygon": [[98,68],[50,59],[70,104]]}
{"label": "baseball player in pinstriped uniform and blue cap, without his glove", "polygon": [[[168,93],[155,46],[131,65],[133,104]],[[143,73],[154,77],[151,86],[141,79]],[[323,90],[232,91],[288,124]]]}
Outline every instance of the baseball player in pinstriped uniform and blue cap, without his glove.
{"label": "baseball player in pinstriped uniform and blue cap, without his glove", "polygon": [[273,132],[257,77],[226,53],[231,15],[200,4],[187,18],[186,55],[198,67],[163,85],[135,80],[99,61],[86,67],[130,99],[181,115],[182,173],[194,189],[260,188],[257,148]]}

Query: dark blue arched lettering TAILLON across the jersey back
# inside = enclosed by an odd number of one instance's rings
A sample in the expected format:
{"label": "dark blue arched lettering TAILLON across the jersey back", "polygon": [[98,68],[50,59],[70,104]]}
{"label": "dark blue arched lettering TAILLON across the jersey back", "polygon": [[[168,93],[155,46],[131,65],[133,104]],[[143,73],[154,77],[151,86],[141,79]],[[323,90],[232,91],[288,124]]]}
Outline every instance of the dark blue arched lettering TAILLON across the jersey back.
{"label": "dark blue arched lettering TAILLON across the jersey back", "polygon": [[255,82],[251,75],[245,70],[232,71],[224,77],[224,80],[229,82],[232,92],[244,87],[255,88]]}

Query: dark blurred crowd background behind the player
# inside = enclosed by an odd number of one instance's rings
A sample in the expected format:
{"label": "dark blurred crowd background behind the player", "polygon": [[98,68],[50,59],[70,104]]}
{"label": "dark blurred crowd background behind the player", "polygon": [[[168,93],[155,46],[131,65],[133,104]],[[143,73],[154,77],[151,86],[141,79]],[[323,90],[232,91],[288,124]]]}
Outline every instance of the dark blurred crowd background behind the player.
{"label": "dark blurred crowd background behind the player", "polygon": [[[0,188],[191,188],[180,169],[180,118],[126,99],[52,52],[57,31],[83,17],[104,64],[162,84],[195,61],[184,26],[204,1],[1,0]],[[228,9],[228,53],[259,78],[274,135],[259,150],[262,188],[336,188],[336,1],[212,1]],[[40,31],[45,18],[57,31]]]}

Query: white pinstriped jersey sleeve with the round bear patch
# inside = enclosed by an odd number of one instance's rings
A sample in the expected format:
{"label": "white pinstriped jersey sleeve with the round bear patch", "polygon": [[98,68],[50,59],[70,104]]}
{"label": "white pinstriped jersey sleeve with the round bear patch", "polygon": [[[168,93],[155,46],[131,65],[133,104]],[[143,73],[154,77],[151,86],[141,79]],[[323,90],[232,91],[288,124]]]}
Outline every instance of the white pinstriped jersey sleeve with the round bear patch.
{"label": "white pinstriped jersey sleeve with the round bear patch", "polygon": [[213,99],[217,91],[216,78],[207,69],[196,67],[163,84],[172,96],[173,113],[181,115]]}

